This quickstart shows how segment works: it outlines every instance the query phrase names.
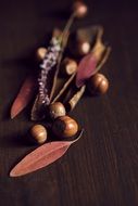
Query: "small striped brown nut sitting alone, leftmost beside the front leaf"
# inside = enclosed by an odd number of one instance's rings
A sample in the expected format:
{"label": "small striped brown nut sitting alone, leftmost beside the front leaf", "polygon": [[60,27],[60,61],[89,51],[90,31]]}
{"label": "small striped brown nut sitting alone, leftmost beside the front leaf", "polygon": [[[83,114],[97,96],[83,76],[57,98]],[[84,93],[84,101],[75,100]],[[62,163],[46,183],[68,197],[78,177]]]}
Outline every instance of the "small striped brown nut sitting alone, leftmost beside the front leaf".
{"label": "small striped brown nut sitting alone, leftmost beside the front leaf", "polygon": [[42,144],[47,141],[47,129],[42,125],[33,126],[30,134],[38,144]]}

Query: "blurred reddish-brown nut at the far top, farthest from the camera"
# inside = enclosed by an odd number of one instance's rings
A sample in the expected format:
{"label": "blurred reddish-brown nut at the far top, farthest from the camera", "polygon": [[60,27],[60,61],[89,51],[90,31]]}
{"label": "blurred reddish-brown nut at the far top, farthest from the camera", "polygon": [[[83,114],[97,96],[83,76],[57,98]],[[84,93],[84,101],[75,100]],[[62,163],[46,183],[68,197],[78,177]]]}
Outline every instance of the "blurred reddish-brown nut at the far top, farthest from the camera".
{"label": "blurred reddish-brown nut at the far top, farthest from the camera", "polygon": [[75,16],[78,18],[84,17],[87,14],[87,5],[79,0],[73,4],[73,12],[75,13]]}

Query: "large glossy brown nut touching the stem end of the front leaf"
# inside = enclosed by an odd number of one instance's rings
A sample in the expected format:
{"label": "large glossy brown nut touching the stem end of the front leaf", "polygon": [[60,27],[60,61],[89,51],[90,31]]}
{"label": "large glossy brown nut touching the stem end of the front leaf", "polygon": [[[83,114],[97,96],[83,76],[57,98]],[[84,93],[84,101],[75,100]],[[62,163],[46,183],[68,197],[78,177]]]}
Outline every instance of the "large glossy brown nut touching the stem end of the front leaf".
{"label": "large glossy brown nut touching the stem end of the front leaf", "polygon": [[72,138],[78,131],[77,123],[70,116],[63,116],[55,119],[52,126],[52,132],[61,138]]}

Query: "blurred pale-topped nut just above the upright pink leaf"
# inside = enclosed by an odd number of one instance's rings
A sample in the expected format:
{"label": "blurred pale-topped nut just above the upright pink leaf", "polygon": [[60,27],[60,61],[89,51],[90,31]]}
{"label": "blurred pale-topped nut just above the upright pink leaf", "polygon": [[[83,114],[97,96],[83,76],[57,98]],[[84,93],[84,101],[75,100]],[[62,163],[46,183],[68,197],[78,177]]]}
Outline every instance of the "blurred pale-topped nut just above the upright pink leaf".
{"label": "blurred pale-topped nut just above the upright pink leaf", "polygon": [[90,51],[90,43],[88,41],[81,41],[77,43],[78,55],[86,55]]}

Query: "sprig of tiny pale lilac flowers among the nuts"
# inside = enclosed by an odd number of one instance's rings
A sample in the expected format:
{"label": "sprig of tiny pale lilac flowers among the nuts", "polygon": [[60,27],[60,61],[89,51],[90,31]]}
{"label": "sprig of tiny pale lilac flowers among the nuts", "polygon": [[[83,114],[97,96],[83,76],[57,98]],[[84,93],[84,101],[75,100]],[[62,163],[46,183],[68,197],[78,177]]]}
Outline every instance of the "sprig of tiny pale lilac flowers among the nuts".
{"label": "sprig of tiny pale lilac flowers among the nuts", "polygon": [[48,89],[47,89],[48,73],[57,64],[60,51],[61,51],[61,42],[58,38],[53,37],[51,40],[51,44],[48,48],[48,52],[47,52],[42,63],[40,64],[41,73],[38,78],[39,101],[46,105],[48,105],[50,103],[50,99],[48,95]]}

